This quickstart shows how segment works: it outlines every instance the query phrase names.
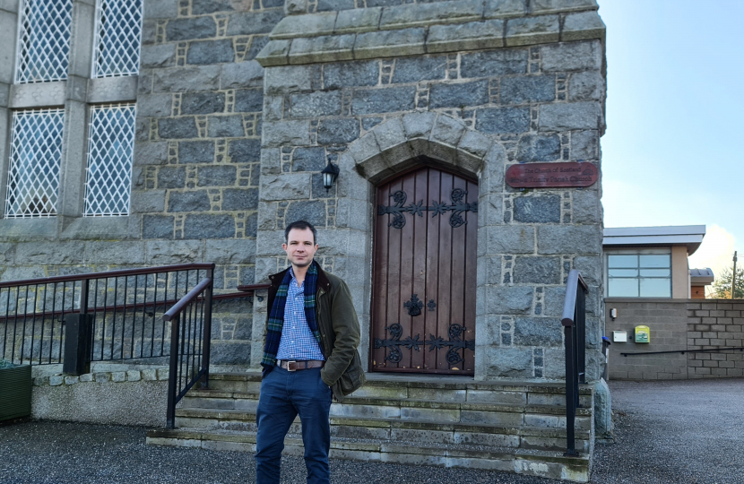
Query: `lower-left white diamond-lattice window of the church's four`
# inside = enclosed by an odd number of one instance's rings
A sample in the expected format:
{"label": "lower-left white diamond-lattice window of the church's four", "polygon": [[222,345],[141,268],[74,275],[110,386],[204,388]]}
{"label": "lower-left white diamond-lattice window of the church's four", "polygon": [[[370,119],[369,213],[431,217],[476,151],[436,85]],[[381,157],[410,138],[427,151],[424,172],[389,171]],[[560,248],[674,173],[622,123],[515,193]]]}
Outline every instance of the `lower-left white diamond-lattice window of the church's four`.
{"label": "lower-left white diamond-lattice window of the church's four", "polygon": [[5,217],[56,215],[64,109],[13,112]]}

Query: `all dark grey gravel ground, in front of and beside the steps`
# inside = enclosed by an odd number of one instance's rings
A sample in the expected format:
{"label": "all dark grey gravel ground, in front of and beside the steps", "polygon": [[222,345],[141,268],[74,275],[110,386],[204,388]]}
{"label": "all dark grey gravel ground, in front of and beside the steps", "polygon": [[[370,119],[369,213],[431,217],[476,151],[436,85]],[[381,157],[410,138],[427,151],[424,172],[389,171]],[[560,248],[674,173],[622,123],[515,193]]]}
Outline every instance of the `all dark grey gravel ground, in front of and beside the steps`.
{"label": "all dark grey gravel ground, in front of and beside the steps", "polygon": [[[597,445],[592,482],[742,482],[744,380],[612,382],[616,443]],[[250,454],[144,445],[145,429],[39,421],[0,427],[0,482],[246,483]],[[333,482],[553,482],[488,471],[332,461]],[[305,480],[301,458],[285,458],[283,482]]]}

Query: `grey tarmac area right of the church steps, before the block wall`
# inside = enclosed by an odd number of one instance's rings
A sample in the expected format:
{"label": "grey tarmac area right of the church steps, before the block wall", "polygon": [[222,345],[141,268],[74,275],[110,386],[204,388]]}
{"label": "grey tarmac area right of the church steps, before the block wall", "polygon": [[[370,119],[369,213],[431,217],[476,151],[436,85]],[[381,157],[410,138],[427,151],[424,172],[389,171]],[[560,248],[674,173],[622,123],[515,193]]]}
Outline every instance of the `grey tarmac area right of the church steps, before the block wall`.
{"label": "grey tarmac area right of the church steps, before the block wall", "polygon": [[744,379],[610,382],[610,391],[617,444],[596,447],[592,482],[744,482]]}

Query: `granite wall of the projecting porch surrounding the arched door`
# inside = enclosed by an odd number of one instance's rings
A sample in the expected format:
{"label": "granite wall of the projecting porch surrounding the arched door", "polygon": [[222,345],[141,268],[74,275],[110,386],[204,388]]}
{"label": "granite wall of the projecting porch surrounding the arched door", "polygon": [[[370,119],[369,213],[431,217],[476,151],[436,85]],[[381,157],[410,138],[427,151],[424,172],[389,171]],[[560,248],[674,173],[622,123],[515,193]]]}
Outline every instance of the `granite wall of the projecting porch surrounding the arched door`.
{"label": "granite wall of the projecting porch surrounding the arched door", "polygon": [[[356,27],[341,27],[347,16],[318,13],[287,17],[273,30],[258,56],[266,71],[256,281],[284,264],[276,247],[285,222],[295,215],[313,220],[321,228],[319,255],[326,264],[333,261],[334,272],[350,285],[363,323],[360,351],[365,359],[374,186],[409,169],[416,156],[427,155],[479,179],[476,378],[564,376],[559,315],[567,273],[575,268],[591,286],[587,371],[596,380],[601,367],[601,185],[515,190],[505,184],[504,171],[512,163],[583,160],[600,165],[602,41],[534,45],[549,39],[534,37],[507,41],[505,48],[499,30],[499,48],[483,48],[497,44],[489,39],[471,44],[479,50],[427,54],[437,22],[473,21],[463,23],[467,29],[459,33],[437,33],[445,50],[461,45],[453,44],[458,36],[489,37],[488,22],[512,22],[483,19],[480,2],[437,5],[426,12],[411,5],[385,7],[406,9],[390,12],[410,13],[408,22],[428,28],[428,36],[421,38],[406,25],[385,26],[385,18],[400,18],[386,17],[385,8],[368,8],[354,17],[375,17],[376,26],[360,20],[353,21]],[[453,21],[463,5],[464,20]],[[548,23],[532,34],[552,29]],[[336,187],[325,192],[319,171],[328,161],[338,163],[342,173]],[[265,307],[256,305],[256,336],[263,334],[258,322],[264,315]],[[259,344],[256,337],[255,355]]]}

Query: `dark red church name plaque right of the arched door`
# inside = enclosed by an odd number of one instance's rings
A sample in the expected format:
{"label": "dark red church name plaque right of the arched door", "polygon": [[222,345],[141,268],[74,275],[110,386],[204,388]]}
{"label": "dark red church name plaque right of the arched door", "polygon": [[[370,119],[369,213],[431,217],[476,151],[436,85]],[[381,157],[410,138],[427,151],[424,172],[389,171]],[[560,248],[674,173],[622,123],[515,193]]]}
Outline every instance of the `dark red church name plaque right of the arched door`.
{"label": "dark red church name plaque right of the arched door", "polygon": [[515,188],[592,186],[600,171],[592,163],[523,163],[506,169],[506,183]]}

